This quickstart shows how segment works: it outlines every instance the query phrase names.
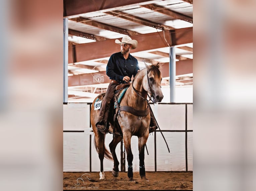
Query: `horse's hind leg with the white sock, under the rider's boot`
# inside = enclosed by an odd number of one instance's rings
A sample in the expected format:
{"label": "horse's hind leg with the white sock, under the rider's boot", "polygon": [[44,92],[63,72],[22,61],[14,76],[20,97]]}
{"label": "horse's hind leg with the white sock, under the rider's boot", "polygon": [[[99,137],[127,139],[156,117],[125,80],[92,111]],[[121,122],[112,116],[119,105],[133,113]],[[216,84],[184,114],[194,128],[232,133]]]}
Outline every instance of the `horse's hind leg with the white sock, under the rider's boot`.
{"label": "horse's hind leg with the white sock, under the rider's boot", "polygon": [[103,171],[103,159],[104,159],[104,134],[98,133],[98,136],[95,137],[95,143],[98,148],[98,154],[101,164],[101,171],[100,171],[100,180],[105,179],[105,173]]}

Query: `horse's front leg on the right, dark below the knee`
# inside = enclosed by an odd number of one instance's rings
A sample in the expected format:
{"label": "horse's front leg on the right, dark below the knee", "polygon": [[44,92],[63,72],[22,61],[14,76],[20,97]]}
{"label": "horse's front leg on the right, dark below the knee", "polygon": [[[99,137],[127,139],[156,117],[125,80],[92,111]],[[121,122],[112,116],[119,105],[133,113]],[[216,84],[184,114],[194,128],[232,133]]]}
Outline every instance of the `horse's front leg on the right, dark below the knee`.
{"label": "horse's front leg on the right, dark below the knee", "polygon": [[145,172],[145,163],[144,163],[144,159],[145,159],[145,145],[147,142],[147,138],[148,138],[148,134],[147,136],[142,136],[139,137],[139,160],[140,160],[140,177],[142,180],[148,180],[146,178],[146,172]]}

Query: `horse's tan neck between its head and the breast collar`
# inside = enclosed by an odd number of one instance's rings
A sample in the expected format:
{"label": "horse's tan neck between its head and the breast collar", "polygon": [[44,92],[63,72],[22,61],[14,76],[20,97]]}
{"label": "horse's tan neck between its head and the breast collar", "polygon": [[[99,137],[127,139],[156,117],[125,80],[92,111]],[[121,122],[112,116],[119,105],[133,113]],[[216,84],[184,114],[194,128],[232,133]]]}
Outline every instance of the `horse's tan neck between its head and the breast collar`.
{"label": "horse's tan neck between its head and the breast collar", "polygon": [[[130,85],[130,87],[127,89],[126,94],[128,96],[126,99],[127,104],[129,106],[139,108],[139,107],[145,107],[146,101],[145,99],[147,98],[147,92],[143,89],[143,77],[144,77],[145,71],[140,71],[140,74],[134,79],[133,83]],[[137,91],[139,95],[136,94],[136,92],[133,90],[134,89]]]}

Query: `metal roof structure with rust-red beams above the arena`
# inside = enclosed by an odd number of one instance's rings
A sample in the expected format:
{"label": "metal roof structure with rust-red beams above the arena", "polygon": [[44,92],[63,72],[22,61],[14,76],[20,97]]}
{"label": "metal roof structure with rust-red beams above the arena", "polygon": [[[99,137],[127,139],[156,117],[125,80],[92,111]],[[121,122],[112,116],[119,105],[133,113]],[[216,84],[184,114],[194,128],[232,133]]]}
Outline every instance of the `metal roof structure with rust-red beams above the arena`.
{"label": "metal roof structure with rust-red beams above the arena", "polygon": [[[175,46],[177,84],[193,84],[193,0],[64,0],[64,18],[69,19],[70,99],[93,97],[106,90],[106,84],[92,83],[92,75],[106,71],[110,51],[113,54],[120,48],[113,40],[124,34],[138,39],[139,49],[131,54],[141,67],[143,60],[148,64],[168,63],[169,46]],[[163,77],[166,84],[167,73]],[[182,79],[186,83],[180,83]]]}

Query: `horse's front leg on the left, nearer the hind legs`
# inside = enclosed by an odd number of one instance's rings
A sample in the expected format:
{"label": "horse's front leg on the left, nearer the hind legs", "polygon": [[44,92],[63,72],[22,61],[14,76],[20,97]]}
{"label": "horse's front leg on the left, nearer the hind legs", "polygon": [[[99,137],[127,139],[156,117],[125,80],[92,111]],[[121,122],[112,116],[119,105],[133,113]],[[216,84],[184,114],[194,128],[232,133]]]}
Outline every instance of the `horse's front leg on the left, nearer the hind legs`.
{"label": "horse's front leg on the left, nearer the hind legs", "polygon": [[124,146],[125,146],[125,150],[127,153],[127,162],[128,162],[128,178],[129,181],[133,181],[133,171],[132,171],[132,161],[133,161],[133,154],[132,154],[132,149],[131,149],[131,137],[132,135],[130,134],[130,132],[123,133],[123,139],[124,139]]}

